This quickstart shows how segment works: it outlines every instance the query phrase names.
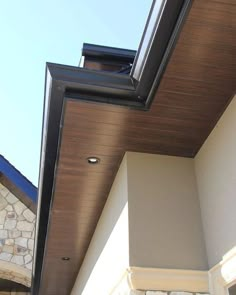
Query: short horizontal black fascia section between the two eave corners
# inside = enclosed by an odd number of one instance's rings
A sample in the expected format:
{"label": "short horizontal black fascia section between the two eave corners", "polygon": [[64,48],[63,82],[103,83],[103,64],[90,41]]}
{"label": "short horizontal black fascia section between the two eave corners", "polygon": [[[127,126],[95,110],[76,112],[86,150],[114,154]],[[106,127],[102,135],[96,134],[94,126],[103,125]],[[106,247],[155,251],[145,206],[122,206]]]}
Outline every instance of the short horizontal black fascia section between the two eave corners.
{"label": "short horizontal black fascia section between the two eave corners", "polygon": [[65,98],[116,104],[142,109],[129,75],[47,63],[47,69]]}

